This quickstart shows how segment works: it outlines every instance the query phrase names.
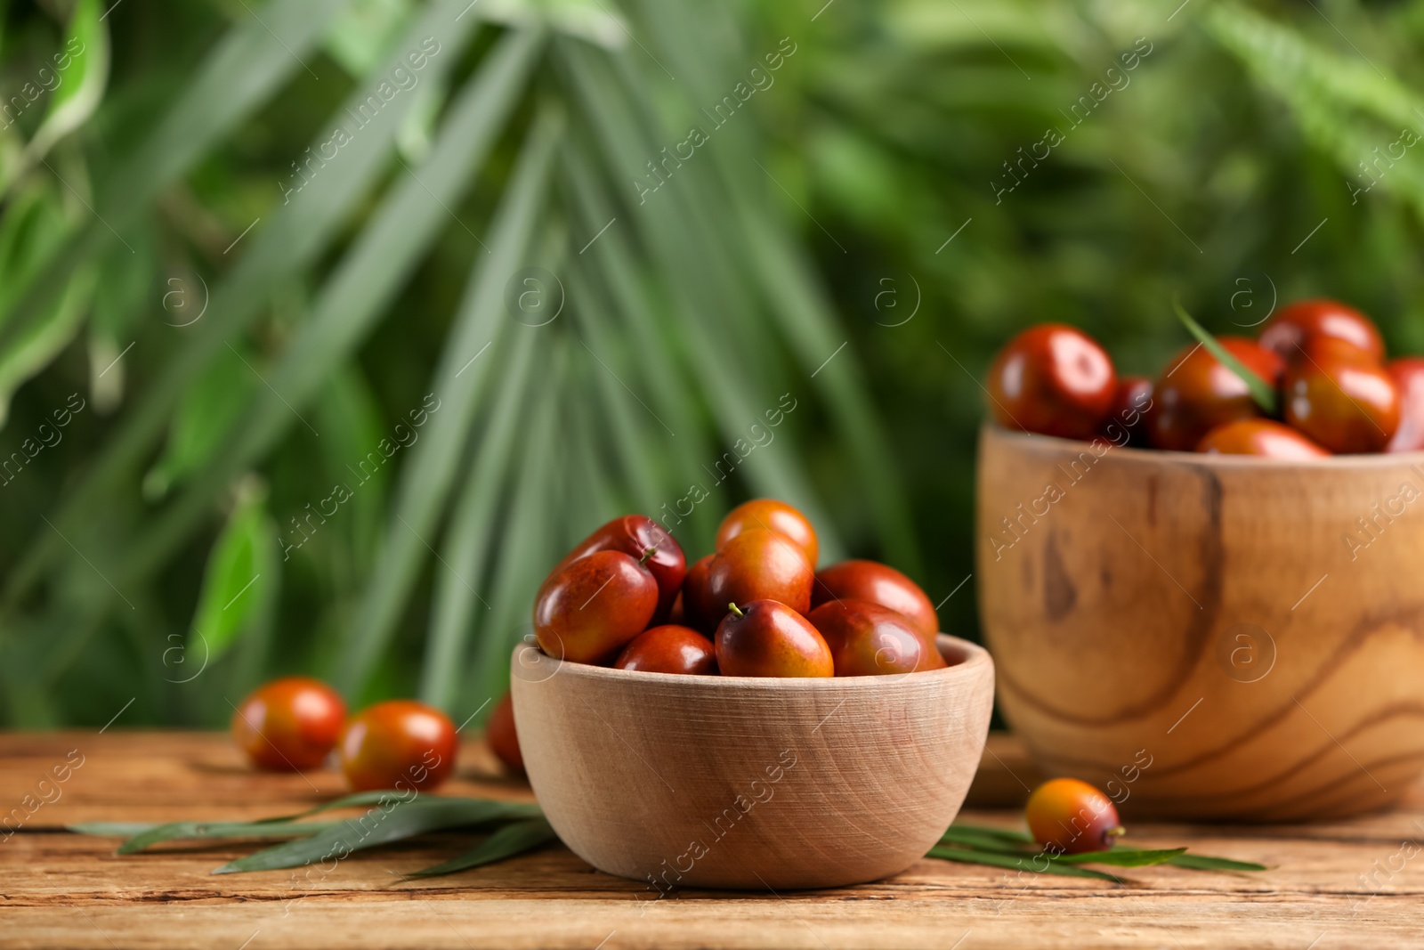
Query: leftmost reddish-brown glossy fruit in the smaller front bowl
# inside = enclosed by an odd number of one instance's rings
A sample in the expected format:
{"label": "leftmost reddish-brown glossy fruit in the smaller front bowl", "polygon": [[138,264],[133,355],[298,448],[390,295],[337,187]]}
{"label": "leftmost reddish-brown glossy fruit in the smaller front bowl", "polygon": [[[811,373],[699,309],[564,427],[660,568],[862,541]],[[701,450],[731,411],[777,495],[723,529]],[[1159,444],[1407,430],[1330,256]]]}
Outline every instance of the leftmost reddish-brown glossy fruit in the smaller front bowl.
{"label": "leftmost reddish-brown glossy fruit in the smaller front bowl", "polygon": [[534,638],[557,659],[611,659],[648,628],[658,581],[622,551],[595,551],[557,568],[534,600]]}

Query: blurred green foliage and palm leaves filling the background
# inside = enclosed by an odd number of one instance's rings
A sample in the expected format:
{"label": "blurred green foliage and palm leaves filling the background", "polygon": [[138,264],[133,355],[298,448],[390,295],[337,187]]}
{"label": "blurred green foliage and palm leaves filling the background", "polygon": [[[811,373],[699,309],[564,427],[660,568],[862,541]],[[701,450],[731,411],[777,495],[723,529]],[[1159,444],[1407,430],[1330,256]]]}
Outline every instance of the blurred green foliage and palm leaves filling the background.
{"label": "blurred green foliage and palm leaves filling the background", "polygon": [[689,555],[776,494],[974,635],[1018,329],[1153,373],[1173,295],[1225,333],[1319,293],[1424,350],[1421,3],[0,6],[13,726],[293,671],[463,719],[561,550],[693,484]]}

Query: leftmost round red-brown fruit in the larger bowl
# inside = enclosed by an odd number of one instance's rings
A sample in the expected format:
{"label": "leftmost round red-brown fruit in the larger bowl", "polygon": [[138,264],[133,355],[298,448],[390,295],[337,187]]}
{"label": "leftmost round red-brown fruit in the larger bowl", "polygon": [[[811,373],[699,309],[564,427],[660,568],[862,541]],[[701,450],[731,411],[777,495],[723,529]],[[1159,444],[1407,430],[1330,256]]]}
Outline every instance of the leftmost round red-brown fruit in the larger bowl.
{"label": "leftmost round red-brown fruit in the larger bowl", "polygon": [[1088,335],[1040,323],[998,352],[987,389],[988,410],[1005,429],[1092,439],[1112,410],[1118,375]]}

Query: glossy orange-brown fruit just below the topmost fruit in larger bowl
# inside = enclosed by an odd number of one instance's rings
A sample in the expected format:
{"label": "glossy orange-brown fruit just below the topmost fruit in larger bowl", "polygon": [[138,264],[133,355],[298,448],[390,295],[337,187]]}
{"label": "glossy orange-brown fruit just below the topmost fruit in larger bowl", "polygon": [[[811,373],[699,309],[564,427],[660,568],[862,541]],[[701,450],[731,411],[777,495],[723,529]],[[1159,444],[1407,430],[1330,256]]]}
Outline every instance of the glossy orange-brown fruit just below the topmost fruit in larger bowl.
{"label": "glossy orange-brown fruit just below the topmost fruit in larger bowl", "polygon": [[1286,373],[1280,395],[1286,422],[1334,453],[1383,451],[1400,427],[1394,379],[1350,345],[1317,345]]}

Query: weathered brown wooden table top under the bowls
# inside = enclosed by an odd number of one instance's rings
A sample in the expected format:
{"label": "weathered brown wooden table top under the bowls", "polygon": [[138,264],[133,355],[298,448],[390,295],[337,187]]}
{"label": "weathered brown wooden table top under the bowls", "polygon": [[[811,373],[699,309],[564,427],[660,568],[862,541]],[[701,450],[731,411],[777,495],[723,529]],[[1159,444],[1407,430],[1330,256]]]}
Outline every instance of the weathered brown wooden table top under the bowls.
{"label": "weathered brown wooden table top under the bowls", "polygon": [[[963,820],[1014,825],[1014,778],[1032,769],[997,736]],[[40,779],[80,762],[63,785]],[[451,795],[530,800],[478,743]],[[308,781],[309,779],[309,781]],[[1266,863],[1257,875],[1173,867],[1135,884],[921,860],[890,880],[810,893],[655,896],[595,872],[562,846],[422,882],[414,870],[468,840],[426,839],[340,862],[332,873],[214,877],[252,845],[171,845],[118,857],[115,839],[66,833],[83,820],[244,819],[298,810],[342,790],[330,772],[258,775],[226,736],[94,732],[0,735],[0,803],[44,792],[0,843],[3,947],[1331,947],[1424,946],[1424,789],[1387,815],[1316,826],[1138,825],[1142,846]],[[58,793],[58,798],[56,798]],[[16,812],[11,812],[16,815]],[[11,818],[11,828],[14,819]]]}

